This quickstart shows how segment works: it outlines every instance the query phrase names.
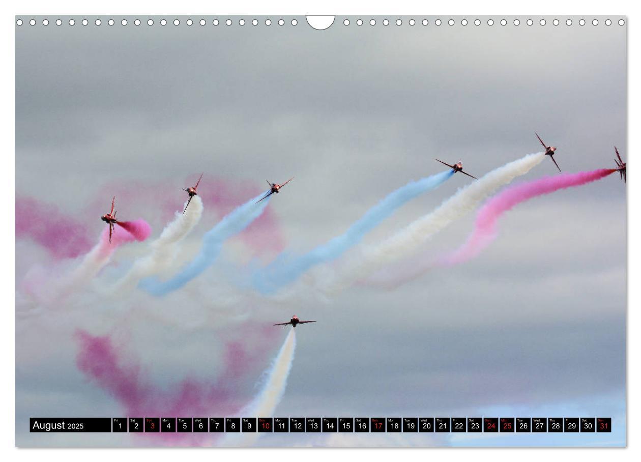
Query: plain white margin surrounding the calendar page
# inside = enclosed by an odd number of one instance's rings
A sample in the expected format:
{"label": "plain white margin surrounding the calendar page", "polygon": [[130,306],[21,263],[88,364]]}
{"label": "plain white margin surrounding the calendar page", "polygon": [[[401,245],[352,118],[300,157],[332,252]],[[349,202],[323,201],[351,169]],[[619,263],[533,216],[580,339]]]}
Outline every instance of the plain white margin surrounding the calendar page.
{"label": "plain white margin surrounding the calendar page", "polygon": [[[584,1],[582,3],[576,2],[563,2],[560,0],[537,0],[528,2],[514,2],[507,0],[459,0],[454,3],[453,1],[416,1],[416,0],[394,0],[393,2],[385,3],[383,1],[347,1],[343,0],[308,0],[308,1],[294,1],[294,0],[271,0],[271,1],[228,1],[222,2],[206,2],[196,0],[181,0],[167,1],[158,0],[152,2],[132,1],[132,0],[111,0],[111,1],[79,1],[79,0],[31,0],[28,3],[15,3],[5,2],[2,8],[2,28],[0,29],[3,34],[2,40],[2,54],[3,54],[3,74],[2,74],[2,120],[0,129],[2,130],[2,140],[4,140],[4,156],[2,178],[0,184],[3,188],[3,194],[0,195],[2,201],[2,209],[4,214],[11,216],[15,212],[15,25],[14,17],[17,14],[74,14],[83,13],[87,15],[102,15],[104,13],[115,14],[140,14],[144,12],[149,15],[159,14],[190,14],[190,13],[203,13],[203,14],[265,14],[269,13],[282,14],[282,15],[304,15],[304,14],[342,14],[342,15],[381,15],[390,12],[397,15],[416,15],[423,13],[425,15],[445,14],[445,15],[485,15],[485,14],[507,14],[507,15],[549,15],[551,13],[558,15],[576,15],[582,13],[585,15],[628,15],[628,81],[635,82],[641,81],[640,63],[641,63],[641,42],[637,29],[635,28],[634,21],[641,22],[641,15],[638,15],[638,6],[632,1],[622,0],[608,0],[607,2],[597,1]],[[637,2],[638,3],[638,2]],[[7,5],[8,4],[8,5]],[[534,15],[535,16],[535,15]],[[630,85],[628,88],[628,101],[629,101],[629,117],[628,127],[636,128],[641,126],[641,118],[639,117],[639,90],[638,87]],[[627,153],[637,153],[638,146],[640,145],[638,131],[628,131],[628,145]],[[629,158],[633,159],[638,154],[628,154]],[[633,167],[634,168],[634,167]],[[639,219],[639,190],[640,185],[635,182],[634,170],[632,176],[628,175],[631,181],[627,183],[628,186],[628,236],[641,236],[641,224]],[[635,204],[635,206],[631,206]],[[240,460],[256,460],[258,458],[266,461],[278,459],[304,459],[306,462],[315,462],[320,460],[331,459],[354,459],[365,456],[369,461],[378,461],[403,458],[410,460],[419,460],[426,457],[442,457],[458,460],[475,460],[503,456],[504,458],[518,458],[519,460],[529,461],[537,460],[540,458],[568,458],[576,457],[582,458],[585,461],[602,459],[619,459],[619,458],[639,458],[640,450],[638,447],[640,443],[631,440],[632,434],[638,433],[638,428],[641,424],[635,422],[635,418],[639,418],[639,399],[634,393],[628,393],[628,422],[626,425],[628,433],[628,449],[537,449],[537,450],[524,450],[524,449],[430,449],[430,451],[438,452],[424,452],[424,450],[411,450],[411,449],[361,449],[356,452],[354,449],[329,449],[329,450],[303,450],[303,449],[271,449],[271,450],[243,450],[243,449],[217,449],[216,452],[193,452],[194,449],[117,449],[117,450],[90,450],[90,449],[56,449],[56,450],[43,450],[43,449],[15,449],[15,223],[12,220],[4,220],[3,225],[0,227],[0,252],[4,255],[3,258],[3,274],[13,274],[13,278],[5,277],[2,282],[1,294],[3,303],[0,305],[3,308],[3,318],[0,322],[1,341],[3,342],[1,349],[1,358],[5,370],[9,370],[9,374],[4,375],[2,384],[3,396],[3,418],[0,418],[0,438],[3,443],[0,447],[3,453],[4,460],[38,460],[42,461],[44,458],[64,459],[65,461],[84,461],[91,459],[92,461],[112,461],[113,459],[129,460],[140,459],[145,457],[147,451],[153,451],[153,457],[156,461],[175,461],[177,458],[239,458]],[[628,281],[638,277],[639,270],[639,252],[640,244],[634,239],[628,242]],[[12,258],[7,258],[8,256]],[[640,288],[638,285],[629,285],[628,287],[628,358],[633,358],[633,361],[628,361],[628,390],[639,390],[639,377],[638,377],[638,358],[639,358],[639,343],[638,336],[631,335],[631,333],[638,333],[639,331],[639,316],[634,308],[641,308]],[[630,418],[633,416],[634,418]],[[187,451],[192,451],[191,453]],[[581,454],[570,454],[570,451],[579,450]],[[144,451],[144,453],[142,452]],[[331,451],[331,452],[328,452]],[[442,451],[448,451],[447,453]],[[362,452],[366,452],[363,454]],[[637,454],[637,456],[634,456]]]}

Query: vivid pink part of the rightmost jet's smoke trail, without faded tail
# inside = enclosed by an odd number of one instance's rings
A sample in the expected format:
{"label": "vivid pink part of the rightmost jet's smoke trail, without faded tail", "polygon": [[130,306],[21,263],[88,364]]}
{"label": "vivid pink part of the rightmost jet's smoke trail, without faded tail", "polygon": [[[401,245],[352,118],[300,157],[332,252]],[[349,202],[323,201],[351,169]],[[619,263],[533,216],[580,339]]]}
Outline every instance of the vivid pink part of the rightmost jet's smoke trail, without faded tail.
{"label": "vivid pink part of the rightmost jet's smoke trail, without faded tail", "polygon": [[551,194],[560,189],[592,183],[592,181],[597,181],[597,179],[606,177],[616,171],[615,169],[599,169],[592,172],[560,174],[504,189],[503,192],[485,202],[485,205],[478,211],[476,222],[474,223],[474,231],[467,238],[467,241],[455,251],[440,258],[438,265],[456,265],[476,257],[496,238],[496,223],[503,213],[511,210],[521,202],[540,195]]}

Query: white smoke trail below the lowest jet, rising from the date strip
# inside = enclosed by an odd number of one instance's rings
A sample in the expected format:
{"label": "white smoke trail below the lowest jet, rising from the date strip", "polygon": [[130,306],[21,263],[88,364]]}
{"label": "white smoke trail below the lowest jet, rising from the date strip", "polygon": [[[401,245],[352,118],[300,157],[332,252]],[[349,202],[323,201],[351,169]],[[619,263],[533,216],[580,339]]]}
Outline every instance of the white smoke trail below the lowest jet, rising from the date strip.
{"label": "white smoke trail below the lowest jet, rising from the date strip", "polygon": [[[294,361],[296,329],[292,327],[267,374],[267,381],[256,398],[238,413],[238,417],[273,417],[274,410],[285,393],[287,377]],[[227,433],[221,446],[251,446],[260,433]]]}

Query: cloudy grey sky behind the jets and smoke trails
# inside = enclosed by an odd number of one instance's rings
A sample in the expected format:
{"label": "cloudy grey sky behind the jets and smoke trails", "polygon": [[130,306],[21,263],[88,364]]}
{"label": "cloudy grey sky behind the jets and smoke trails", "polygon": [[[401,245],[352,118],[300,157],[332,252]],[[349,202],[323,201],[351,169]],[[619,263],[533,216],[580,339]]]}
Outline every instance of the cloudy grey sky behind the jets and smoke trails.
{"label": "cloudy grey sky behind the jets and smoke trails", "polygon": [[[542,27],[526,26],[528,18],[520,17],[515,27],[513,17],[508,26],[494,17],[492,27],[487,18],[463,27],[436,26],[428,17],[425,27],[420,21],[408,26],[410,18],[402,17],[403,26],[386,27],[381,17],[374,27],[359,27],[355,17],[350,26],[337,17],[326,31],[300,17],[296,27],[289,19],[278,26],[274,17],[269,27],[260,17],[256,27],[249,21],[228,27],[226,17],[219,17],[219,26],[212,26],[212,17],[205,17],[206,26],[186,26],[184,17],[179,27],[160,26],[160,17],[151,27],[133,26],[133,17],[126,27],[119,19],[107,26],[106,17],[99,27],[91,17],[86,27],[81,18],[73,27],[61,19],[60,27],[38,19],[37,26],[16,28],[16,184],[18,196],[57,202],[70,214],[116,180],[166,180],[166,190],[158,192],[162,202],[182,201],[178,188],[185,177],[203,170],[257,187],[265,178],[295,175],[269,207],[288,249],[304,252],[342,233],[388,192],[440,171],[435,157],[462,160],[480,176],[539,151],[534,131],[558,146],[555,158],[564,172],[611,167],[615,144],[627,157],[626,28],[604,26],[604,18],[599,26],[578,26],[572,17],[570,27],[565,17],[559,26],[550,18]],[[546,159],[526,179],[555,172]],[[467,182],[454,176],[397,211],[366,242],[428,213]],[[157,219],[155,207],[122,204],[132,217],[150,221]],[[79,212],[75,217],[87,220]],[[458,245],[473,219],[448,227],[426,249],[437,255]],[[100,222],[92,226],[101,229]],[[492,406],[555,403],[579,403],[590,413],[590,403],[614,396],[610,414],[620,415],[624,185],[611,176],[535,199],[506,215],[499,229],[478,259],[394,292],[353,288],[329,303],[310,297],[281,306],[255,297],[238,307],[265,322],[292,313],[319,320],[297,329],[294,367],[277,413],[471,415]],[[199,226],[192,233],[184,259],[205,231]],[[18,267],[42,256],[21,245]],[[116,259],[126,264],[132,254],[123,249]],[[234,252],[225,258],[233,260]],[[235,321],[227,313],[222,326],[210,320],[192,335],[144,313],[171,319],[179,304],[187,310],[176,313],[179,326],[190,314],[206,317],[201,300],[215,300],[217,289],[208,281],[218,281],[221,271],[204,274],[198,290],[160,301],[136,293],[119,302],[119,313],[145,306],[131,327],[131,344],[159,386],[190,374],[215,377],[202,361],[215,367],[218,359],[204,350],[215,351],[217,335]],[[107,323],[118,316],[109,306],[86,309],[98,309]],[[78,316],[78,324],[101,333],[99,321]],[[38,440],[23,431],[23,419],[36,413],[119,413],[116,402],[75,370],[71,340],[48,358],[31,354],[42,342],[42,324],[18,320],[19,331],[33,332],[17,336],[17,442],[79,444],[69,436]],[[69,327],[61,327],[61,336],[67,334]],[[160,342],[168,335],[171,352]],[[196,359],[184,361],[181,351]],[[256,380],[240,387],[239,399],[251,397]],[[607,413],[609,405],[599,411]],[[101,438],[87,441],[131,442]]]}

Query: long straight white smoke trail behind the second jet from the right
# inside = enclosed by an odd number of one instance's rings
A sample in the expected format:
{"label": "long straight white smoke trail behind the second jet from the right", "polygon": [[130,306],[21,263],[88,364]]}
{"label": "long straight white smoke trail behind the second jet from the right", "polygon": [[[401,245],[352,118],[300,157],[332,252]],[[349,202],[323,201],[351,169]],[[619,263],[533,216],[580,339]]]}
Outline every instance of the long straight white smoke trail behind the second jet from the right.
{"label": "long straight white smoke trail behind the second jet from the right", "polygon": [[460,188],[436,210],[401,229],[387,240],[362,249],[358,256],[335,268],[320,286],[323,292],[333,293],[370,276],[392,261],[404,258],[432,235],[474,210],[482,201],[515,177],[524,175],[544,160],[544,153],[528,154],[494,169],[485,176]]}

